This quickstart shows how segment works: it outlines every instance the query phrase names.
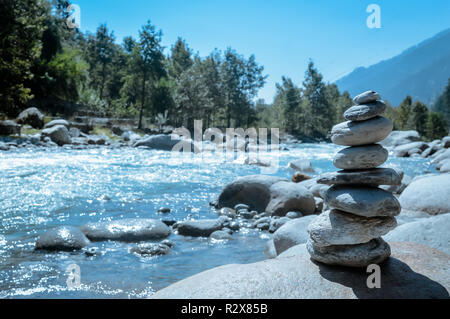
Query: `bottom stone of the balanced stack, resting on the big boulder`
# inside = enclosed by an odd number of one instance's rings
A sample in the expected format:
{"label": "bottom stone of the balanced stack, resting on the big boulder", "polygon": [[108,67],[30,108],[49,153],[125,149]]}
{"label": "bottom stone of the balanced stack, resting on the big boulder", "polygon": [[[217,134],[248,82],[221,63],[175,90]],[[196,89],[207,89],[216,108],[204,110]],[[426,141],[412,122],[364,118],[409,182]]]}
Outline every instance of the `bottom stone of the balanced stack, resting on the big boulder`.
{"label": "bottom stone of the balanced stack, resting on the big boulder", "polygon": [[368,243],[357,245],[339,245],[319,247],[310,240],[306,243],[311,258],[327,264],[346,267],[367,267],[379,264],[391,255],[389,245],[382,239],[372,239]]}

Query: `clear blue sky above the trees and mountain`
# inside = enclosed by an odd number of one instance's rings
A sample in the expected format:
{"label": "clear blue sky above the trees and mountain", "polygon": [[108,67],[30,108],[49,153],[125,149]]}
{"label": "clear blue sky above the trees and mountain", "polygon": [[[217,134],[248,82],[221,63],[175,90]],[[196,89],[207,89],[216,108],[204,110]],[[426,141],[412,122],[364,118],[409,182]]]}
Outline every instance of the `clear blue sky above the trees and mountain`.
{"label": "clear blue sky above the trees and mountain", "polygon": [[[369,66],[450,27],[448,0],[72,0],[82,31],[107,23],[117,41],[151,20],[168,53],[177,37],[201,56],[232,47],[265,67],[259,97],[271,102],[285,75],[301,84],[311,58],[326,81]],[[381,8],[381,28],[369,29],[369,4]]]}

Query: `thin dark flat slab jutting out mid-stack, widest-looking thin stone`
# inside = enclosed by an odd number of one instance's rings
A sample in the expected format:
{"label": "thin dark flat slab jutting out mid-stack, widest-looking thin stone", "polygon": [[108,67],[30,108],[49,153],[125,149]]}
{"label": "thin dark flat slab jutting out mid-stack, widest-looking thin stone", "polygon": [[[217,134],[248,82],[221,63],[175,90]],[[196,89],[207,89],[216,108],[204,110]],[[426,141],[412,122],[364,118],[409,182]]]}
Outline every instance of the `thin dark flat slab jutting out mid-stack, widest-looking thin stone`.
{"label": "thin dark flat slab jutting out mid-stack, widest-looking thin stone", "polygon": [[392,168],[345,170],[322,174],[317,183],[327,185],[400,185],[402,178]]}

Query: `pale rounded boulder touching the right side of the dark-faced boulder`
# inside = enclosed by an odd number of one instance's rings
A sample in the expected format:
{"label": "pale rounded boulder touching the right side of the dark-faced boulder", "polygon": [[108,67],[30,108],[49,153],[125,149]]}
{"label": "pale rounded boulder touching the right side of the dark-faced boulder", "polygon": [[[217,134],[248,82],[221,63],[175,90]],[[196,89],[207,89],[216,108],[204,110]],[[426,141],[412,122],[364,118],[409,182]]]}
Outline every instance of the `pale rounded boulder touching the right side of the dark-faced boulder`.
{"label": "pale rounded boulder touching the right side of the dark-faced boulder", "polygon": [[265,211],[270,215],[284,216],[290,211],[310,215],[316,210],[313,194],[298,183],[278,182],[273,184],[269,191],[270,202]]}

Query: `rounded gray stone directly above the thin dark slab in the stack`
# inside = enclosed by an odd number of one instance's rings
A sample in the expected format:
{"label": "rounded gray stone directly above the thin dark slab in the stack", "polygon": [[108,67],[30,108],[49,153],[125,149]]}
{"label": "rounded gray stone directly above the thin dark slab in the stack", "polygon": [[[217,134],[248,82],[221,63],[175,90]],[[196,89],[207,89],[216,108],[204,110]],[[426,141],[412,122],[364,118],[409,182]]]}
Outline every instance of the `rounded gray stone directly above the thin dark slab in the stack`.
{"label": "rounded gray stone directly above the thin dark slab in the stack", "polygon": [[333,164],[340,169],[375,168],[386,162],[389,152],[381,145],[347,147],[333,158]]}

